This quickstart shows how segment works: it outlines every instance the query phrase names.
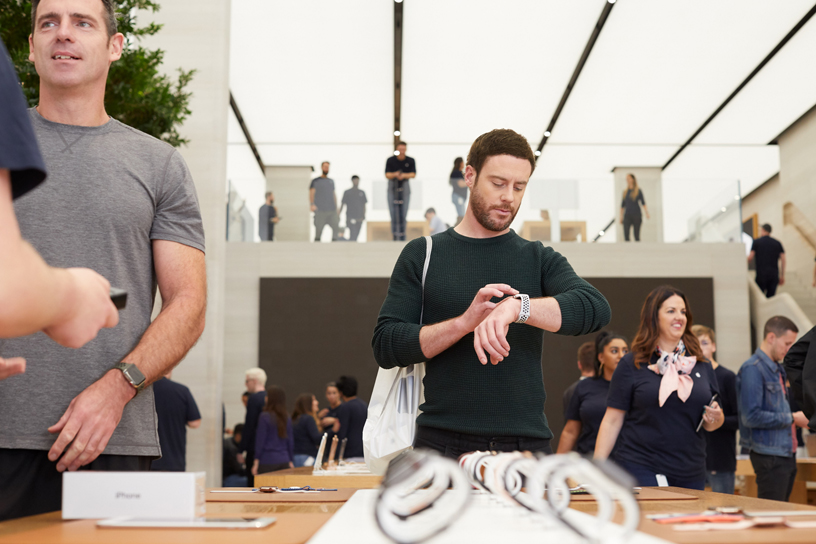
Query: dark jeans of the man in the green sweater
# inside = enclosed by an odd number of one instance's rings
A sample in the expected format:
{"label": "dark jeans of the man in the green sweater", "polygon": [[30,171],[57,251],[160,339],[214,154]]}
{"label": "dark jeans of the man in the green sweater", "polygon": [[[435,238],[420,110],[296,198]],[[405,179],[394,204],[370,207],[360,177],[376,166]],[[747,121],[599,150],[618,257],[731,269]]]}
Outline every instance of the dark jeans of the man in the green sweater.
{"label": "dark jeans of the man in the green sweater", "polygon": [[435,450],[451,459],[471,451],[531,451],[552,453],[549,438],[531,436],[480,436],[417,426],[414,448]]}

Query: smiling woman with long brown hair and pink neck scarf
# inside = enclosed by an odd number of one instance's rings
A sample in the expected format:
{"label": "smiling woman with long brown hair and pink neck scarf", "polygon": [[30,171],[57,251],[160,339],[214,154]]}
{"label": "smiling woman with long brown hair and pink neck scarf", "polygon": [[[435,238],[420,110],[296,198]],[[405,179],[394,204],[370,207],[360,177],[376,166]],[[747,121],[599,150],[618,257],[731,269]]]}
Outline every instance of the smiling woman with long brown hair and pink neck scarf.
{"label": "smiling woman with long brown hair and pink neck scarf", "polygon": [[[614,460],[641,486],[703,490],[706,441],[697,430],[719,429],[723,412],[714,369],[691,332],[691,308],[669,285],[652,290],[640,313],[632,351],[609,385],[595,458]],[[617,442],[618,436],[622,439]]]}

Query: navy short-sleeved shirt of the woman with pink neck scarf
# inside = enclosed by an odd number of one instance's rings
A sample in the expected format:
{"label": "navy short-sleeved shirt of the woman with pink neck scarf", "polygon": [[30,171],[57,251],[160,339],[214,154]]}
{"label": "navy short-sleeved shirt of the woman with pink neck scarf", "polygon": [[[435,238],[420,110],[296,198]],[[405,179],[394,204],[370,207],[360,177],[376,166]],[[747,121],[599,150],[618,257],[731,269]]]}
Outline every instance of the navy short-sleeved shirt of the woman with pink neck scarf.
{"label": "navy short-sleeved shirt of the woman with pink neck scarf", "polygon": [[[651,362],[657,362],[652,355]],[[698,361],[691,371],[694,387],[686,402],[672,392],[663,407],[658,404],[662,376],[646,364],[635,368],[634,353],[623,356],[612,375],[607,406],[626,412],[614,460],[644,466],[672,478],[704,479],[706,440],[702,427],[703,407],[719,395],[714,369]],[[719,396],[718,396],[719,398]]]}

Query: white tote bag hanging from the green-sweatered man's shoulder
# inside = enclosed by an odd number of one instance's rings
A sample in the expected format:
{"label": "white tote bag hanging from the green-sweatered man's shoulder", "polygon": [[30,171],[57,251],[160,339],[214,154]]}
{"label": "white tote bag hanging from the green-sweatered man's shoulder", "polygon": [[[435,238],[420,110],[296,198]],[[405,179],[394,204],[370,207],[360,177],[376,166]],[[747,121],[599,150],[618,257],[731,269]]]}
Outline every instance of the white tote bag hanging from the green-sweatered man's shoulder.
{"label": "white tote bag hanging from the green-sweatered man's shoulder", "polygon": [[[425,276],[433,247],[430,236],[426,236],[425,240],[420,324],[425,312]],[[363,453],[368,470],[373,474],[385,474],[391,459],[413,446],[419,405],[425,402],[422,387],[424,377],[425,363],[377,371],[374,391],[368,403],[368,418],[363,427]]]}

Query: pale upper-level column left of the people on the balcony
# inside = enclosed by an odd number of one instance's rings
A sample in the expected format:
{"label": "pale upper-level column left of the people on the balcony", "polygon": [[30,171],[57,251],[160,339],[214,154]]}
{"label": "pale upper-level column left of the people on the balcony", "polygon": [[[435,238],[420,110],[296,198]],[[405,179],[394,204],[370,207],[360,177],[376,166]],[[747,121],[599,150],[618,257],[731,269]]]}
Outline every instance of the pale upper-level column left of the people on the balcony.
{"label": "pale upper-level column left of the people on the balcony", "polygon": [[275,225],[278,242],[307,242],[311,239],[309,210],[311,166],[265,166],[266,190],[275,195],[280,222]]}

